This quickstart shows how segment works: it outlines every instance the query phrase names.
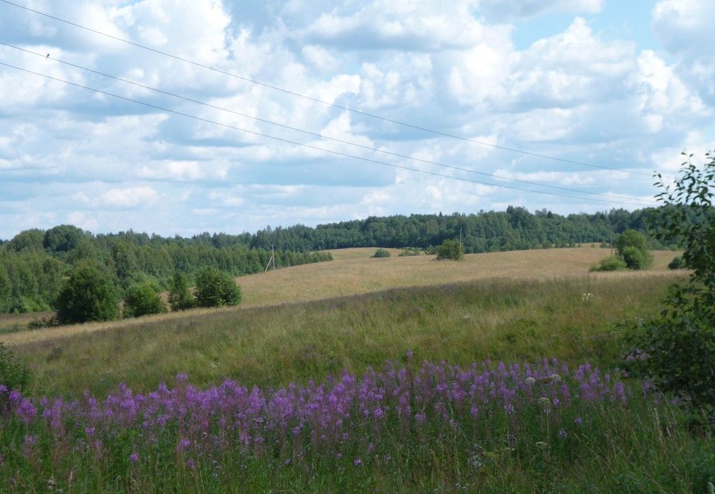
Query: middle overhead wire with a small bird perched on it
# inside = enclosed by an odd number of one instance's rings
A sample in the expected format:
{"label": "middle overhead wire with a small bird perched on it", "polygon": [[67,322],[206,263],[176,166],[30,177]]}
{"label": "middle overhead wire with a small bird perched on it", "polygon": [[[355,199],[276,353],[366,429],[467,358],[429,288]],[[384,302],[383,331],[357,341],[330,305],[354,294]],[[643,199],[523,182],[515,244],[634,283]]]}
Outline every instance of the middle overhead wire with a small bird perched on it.
{"label": "middle overhead wire with a small bird perched on it", "polygon": [[[4,41],[0,41],[0,45],[2,45],[2,46],[8,46],[9,48],[13,48],[13,49],[16,49],[16,50],[19,50],[19,51],[24,51],[25,53],[28,53],[28,54],[32,54],[32,55],[35,55],[35,56],[39,56],[39,57],[42,58],[42,59],[47,59],[47,58],[48,58],[46,55],[41,54],[41,53],[39,53],[39,52],[37,52],[37,51],[32,51],[32,50],[30,50],[30,49],[22,48],[21,46],[15,46],[15,45],[13,45],[13,44],[5,43]],[[256,120],[257,122],[264,122],[264,123],[267,123],[267,124],[275,125],[275,126],[277,126],[277,127],[282,127],[282,128],[284,128],[284,129],[290,129],[290,130],[293,130],[293,131],[296,131],[296,132],[302,132],[303,134],[307,134],[307,135],[310,135],[310,136],[313,136],[313,137],[318,137],[318,138],[320,138],[320,139],[326,139],[326,140],[330,140],[330,141],[333,141],[333,142],[340,142],[340,143],[342,143],[342,144],[349,144],[350,146],[355,146],[355,147],[358,147],[358,148],[361,148],[361,149],[366,149],[366,150],[368,150],[368,151],[379,152],[379,153],[388,154],[388,155],[394,156],[394,157],[399,157],[399,158],[403,158],[403,159],[410,159],[410,160],[413,160],[413,161],[415,161],[415,162],[421,162],[421,163],[425,163],[425,164],[432,164],[432,165],[435,165],[435,166],[438,166],[438,167],[444,167],[444,168],[448,168],[448,169],[455,169],[455,170],[458,170],[458,171],[460,171],[460,172],[469,172],[469,173],[473,173],[473,174],[482,175],[482,176],[484,176],[484,177],[491,177],[491,178],[494,178],[494,179],[508,180],[508,181],[510,181],[510,182],[519,182],[519,183],[528,184],[528,185],[536,185],[537,187],[547,187],[547,188],[549,188],[549,189],[563,190],[563,191],[565,191],[565,192],[576,192],[577,194],[589,194],[589,195],[596,195],[596,196],[600,196],[600,197],[608,197],[609,199],[626,199],[626,200],[628,200],[628,201],[642,202],[642,203],[644,203],[644,205],[654,205],[654,203],[651,202],[651,201],[648,201],[648,200],[646,200],[646,199],[638,199],[637,197],[626,197],[626,196],[619,196],[619,195],[616,195],[616,194],[603,194],[603,193],[601,193],[601,192],[591,192],[591,191],[586,191],[586,190],[571,189],[571,188],[569,188],[569,187],[558,187],[558,186],[556,186],[556,185],[542,184],[542,183],[539,183],[539,182],[531,182],[531,181],[528,181],[528,180],[516,179],[516,178],[513,178],[513,177],[503,177],[503,176],[497,175],[497,174],[491,174],[491,173],[486,173],[486,172],[479,172],[478,170],[469,169],[469,168],[455,167],[455,166],[450,165],[450,164],[444,164],[444,163],[440,163],[440,162],[435,162],[435,161],[431,161],[431,160],[429,160],[429,159],[421,159],[421,158],[417,158],[417,157],[411,157],[411,156],[408,156],[407,154],[395,153],[395,152],[388,151],[388,150],[386,150],[386,149],[380,149],[380,148],[377,148],[377,147],[367,146],[367,145],[365,145],[365,144],[360,144],[360,143],[358,143],[358,142],[353,142],[353,141],[347,141],[347,140],[345,140],[345,139],[338,139],[338,138],[336,138],[336,137],[330,137],[330,136],[327,136],[327,135],[325,135],[325,134],[320,134],[320,133],[317,133],[317,132],[311,132],[311,131],[309,131],[309,130],[300,129],[300,128],[297,128],[297,127],[292,127],[292,126],[290,126],[290,125],[281,124],[281,123],[279,123],[279,122],[273,122],[272,120],[262,119],[262,118],[260,118],[260,117],[254,117],[254,116],[252,116],[252,115],[250,115],[250,114],[245,114],[245,113],[242,113],[242,112],[237,112],[237,111],[235,111],[235,110],[228,109],[228,108],[225,108],[225,107],[219,107],[219,106],[217,106],[217,105],[215,105],[215,104],[210,104],[210,103],[207,103],[207,102],[199,101],[199,100],[197,100],[197,99],[192,99],[192,98],[189,98],[189,97],[184,97],[184,96],[182,96],[182,95],[180,95],[180,94],[175,94],[175,93],[172,93],[172,92],[164,91],[164,90],[162,90],[162,89],[157,89],[157,88],[155,88],[155,87],[147,86],[147,85],[141,84],[141,83],[139,83],[139,82],[130,81],[129,79],[123,79],[122,77],[113,76],[112,74],[105,74],[105,73],[102,72],[102,71],[97,71],[97,70],[94,70],[94,69],[89,69],[88,67],[84,67],[84,66],[81,66],[81,65],[73,64],[73,63],[71,63],[71,62],[69,62],[69,61],[64,61],[64,60],[57,59],[57,58],[52,58],[51,60],[52,60],[52,61],[56,61],[56,62],[59,63],[59,64],[64,64],[64,65],[67,65],[67,66],[75,67],[75,68],[77,68],[77,69],[82,69],[82,70],[84,70],[84,71],[91,72],[92,74],[98,74],[98,75],[100,75],[100,76],[108,77],[109,79],[114,79],[114,80],[121,81],[121,82],[124,82],[124,83],[127,83],[127,84],[132,84],[132,85],[134,85],[134,86],[136,86],[136,87],[141,87],[141,88],[143,88],[143,89],[149,89],[149,90],[151,90],[151,91],[154,91],[154,92],[157,92],[157,93],[160,93],[160,94],[166,94],[167,96],[170,96],[170,97],[182,99],[182,100],[187,101],[187,102],[192,102],[192,103],[200,104],[200,105],[202,105],[202,106],[204,106],[204,107],[209,107],[209,108],[212,108],[212,109],[217,109],[217,110],[220,110],[220,111],[222,111],[222,112],[232,113],[232,114],[235,114],[235,115],[239,115],[239,116],[241,116],[241,117],[247,117],[247,118]]]}

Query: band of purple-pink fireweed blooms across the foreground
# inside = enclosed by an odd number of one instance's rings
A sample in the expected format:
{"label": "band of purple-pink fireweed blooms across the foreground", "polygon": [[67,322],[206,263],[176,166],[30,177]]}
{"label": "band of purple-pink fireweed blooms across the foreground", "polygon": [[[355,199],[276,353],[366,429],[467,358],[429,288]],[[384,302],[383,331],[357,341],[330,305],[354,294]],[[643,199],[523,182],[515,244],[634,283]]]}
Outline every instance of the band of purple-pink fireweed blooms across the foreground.
{"label": "band of purple-pink fireweed blooms across the foreground", "polygon": [[[421,436],[425,430],[460,434],[498,414],[508,415],[508,422],[518,426],[528,410],[541,409],[551,430],[560,432],[568,429],[566,420],[573,420],[568,415],[573,405],[623,406],[630,396],[618,373],[606,377],[588,364],[570,369],[556,359],[543,359],[524,365],[487,361],[467,366],[425,361],[417,370],[386,362],[363,375],[342,372],[322,382],[277,390],[232,380],[199,389],[179,374],[173,387],[161,384],[147,394],[119,385],[104,399],[87,392],[76,402],[30,400],[13,391],[0,394],[0,400],[7,398],[9,420],[46,431],[43,445],[47,441],[51,448],[53,441],[70,440],[70,451],[91,448],[107,455],[114,448],[109,443],[105,447],[98,437],[137,438],[129,456],[132,463],[139,462],[139,455],[151,454],[144,452],[154,450],[169,434],[177,453],[190,449],[197,462],[233,450],[245,457],[280,452],[279,462],[286,456],[349,454],[353,463],[362,464],[363,456],[372,458],[369,450],[383,450],[379,438],[395,424],[404,435]],[[581,425],[581,417],[573,423]],[[512,446],[521,440],[513,431],[507,437]]]}

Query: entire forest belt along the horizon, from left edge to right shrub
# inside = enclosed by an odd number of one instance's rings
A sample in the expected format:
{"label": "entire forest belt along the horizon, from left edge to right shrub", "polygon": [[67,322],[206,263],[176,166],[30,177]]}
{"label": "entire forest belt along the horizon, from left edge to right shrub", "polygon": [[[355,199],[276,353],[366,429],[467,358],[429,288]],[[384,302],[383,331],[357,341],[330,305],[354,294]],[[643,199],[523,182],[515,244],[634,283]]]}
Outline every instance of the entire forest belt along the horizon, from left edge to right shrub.
{"label": "entire forest belt along the horizon, from left edge to right shrub", "polygon": [[[91,263],[114,281],[117,290],[149,281],[165,290],[174,272],[193,281],[202,267],[240,276],[260,272],[274,245],[276,266],[329,260],[315,251],[342,247],[420,247],[463,236],[465,252],[568,247],[608,242],[626,229],[647,233],[649,209],[613,209],[562,216],[521,207],[477,214],[410,214],[368,217],[317,227],[272,229],[255,234],[202,233],[191,238],[119,232],[91,234],[60,225],[30,229],[0,242],[0,312],[33,312],[51,307],[61,281],[72,267]],[[651,247],[659,244],[651,239]]]}

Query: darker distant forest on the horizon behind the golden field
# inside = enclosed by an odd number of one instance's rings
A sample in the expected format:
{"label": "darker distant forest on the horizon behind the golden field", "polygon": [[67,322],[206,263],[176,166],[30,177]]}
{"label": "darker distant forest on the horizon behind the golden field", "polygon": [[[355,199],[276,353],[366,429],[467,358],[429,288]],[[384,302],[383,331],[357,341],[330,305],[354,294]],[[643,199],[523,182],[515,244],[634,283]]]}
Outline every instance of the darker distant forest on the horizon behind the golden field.
{"label": "darker distant forest on the horizon behind the golden field", "polygon": [[[536,213],[523,207],[504,212],[476,214],[410,214],[410,216],[369,217],[349,222],[320,224],[315,228],[297,225],[260,230],[241,239],[251,247],[310,251],[343,247],[435,247],[445,239],[463,236],[464,250],[497,252],[593,242],[610,242],[611,236],[636,229],[648,234],[647,217],[653,209],[628,212],[613,209],[595,214],[561,216],[542,209]],[[650,237],[649,237],[650,238]],[[651,239],[651,247],[659,247]]]}

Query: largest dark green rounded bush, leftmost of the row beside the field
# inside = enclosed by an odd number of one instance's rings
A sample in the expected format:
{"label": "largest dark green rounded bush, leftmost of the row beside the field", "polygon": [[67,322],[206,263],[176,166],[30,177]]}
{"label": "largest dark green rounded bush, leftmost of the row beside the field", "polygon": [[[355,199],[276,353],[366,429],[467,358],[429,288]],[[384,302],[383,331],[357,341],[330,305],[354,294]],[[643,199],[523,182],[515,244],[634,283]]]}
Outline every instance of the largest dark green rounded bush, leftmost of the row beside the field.
{"label": "largest dark green rounded bush, leftmost of the row beside the field", "polygon": [[119,317],[119,300],[112,282],[96,267],[79,267],[64,282],[56,301],[62,324],[107,321]]}

